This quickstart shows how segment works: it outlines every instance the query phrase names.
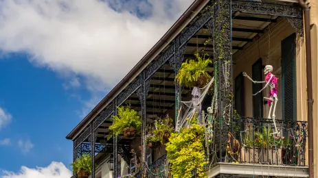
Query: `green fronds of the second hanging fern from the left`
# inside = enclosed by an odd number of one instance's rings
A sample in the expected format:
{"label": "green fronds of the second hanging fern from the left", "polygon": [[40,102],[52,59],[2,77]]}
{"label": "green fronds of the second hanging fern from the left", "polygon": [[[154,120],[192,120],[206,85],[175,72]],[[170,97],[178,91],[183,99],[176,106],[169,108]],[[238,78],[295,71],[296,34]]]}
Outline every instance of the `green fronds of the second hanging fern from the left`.
{"label": "green fronds of the second hanging fern from the left", "polygon": [[109,127],[111,133],[107,139],[110,139],[113,134],[116,136],[122,134],[125,129],[134,128],[137,131],[141,129],[141,118],[135,110],[130,110],[130,107],[117,107],[118,114],[113,116],[113,125]]}

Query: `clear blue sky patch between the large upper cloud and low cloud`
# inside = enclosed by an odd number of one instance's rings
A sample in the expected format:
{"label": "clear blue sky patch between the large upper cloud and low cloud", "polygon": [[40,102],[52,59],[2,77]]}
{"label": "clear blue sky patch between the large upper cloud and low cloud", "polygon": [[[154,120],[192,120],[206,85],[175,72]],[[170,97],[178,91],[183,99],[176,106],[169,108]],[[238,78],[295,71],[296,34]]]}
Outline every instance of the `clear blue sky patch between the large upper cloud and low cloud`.
{"label": "clear blue sky patch between the large upper cloud and low cloud", "polygon": [[[0,60],[0,107],[12,115],[1,129],[0,140],[10,139],[0,147],[0,168],[17,171],[21,165],[48,165],[52,160],[69,164],[72,144],[65,136],[80,122],[82,103],[72,94],[89,97],[87,90],[65,90],[65,81],[47,68],[34,67],[25,55],[11,55]],[[19,140],[32,148],[19,147]],[[29,146],[30,147],[30,146]]]}

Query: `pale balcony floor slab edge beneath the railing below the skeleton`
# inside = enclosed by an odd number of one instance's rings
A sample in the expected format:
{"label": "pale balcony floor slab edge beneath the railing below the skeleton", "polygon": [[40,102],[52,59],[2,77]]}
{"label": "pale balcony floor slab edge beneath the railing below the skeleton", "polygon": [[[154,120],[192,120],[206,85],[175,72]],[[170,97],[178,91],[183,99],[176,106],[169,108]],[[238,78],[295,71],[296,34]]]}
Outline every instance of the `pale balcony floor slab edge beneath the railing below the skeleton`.
{"label": "pale balcony floor slab edge beneath the railing below the skeleton", "polygon": [[207,177],[216,175],[238,175],[237,177],[309,177],[307,166],[282,166],[261,164],[216,163],[207,171]]}

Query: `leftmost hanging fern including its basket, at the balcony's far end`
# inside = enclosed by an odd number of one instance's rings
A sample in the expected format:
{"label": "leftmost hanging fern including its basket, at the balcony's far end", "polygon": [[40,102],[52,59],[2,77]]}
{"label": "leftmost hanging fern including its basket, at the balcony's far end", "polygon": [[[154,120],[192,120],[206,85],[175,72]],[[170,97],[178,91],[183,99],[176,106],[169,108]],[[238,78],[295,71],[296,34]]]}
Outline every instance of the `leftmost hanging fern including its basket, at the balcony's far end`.
{"label": "leftmost hanging fern including its basket, at the balcony's far end", "polygon": [[91,155],[82,154],[78,159],[71,164],[73,172],[78,175],[78,178],[87,178],[91,174],[92,160]]}

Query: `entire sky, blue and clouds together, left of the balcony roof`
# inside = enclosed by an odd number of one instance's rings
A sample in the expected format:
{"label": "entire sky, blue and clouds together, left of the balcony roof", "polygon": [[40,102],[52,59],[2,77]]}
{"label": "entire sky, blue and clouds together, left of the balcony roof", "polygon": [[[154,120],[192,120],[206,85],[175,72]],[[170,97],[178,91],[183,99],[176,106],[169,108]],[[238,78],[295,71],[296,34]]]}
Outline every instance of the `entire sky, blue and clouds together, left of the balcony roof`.
{"label": "entire sky, blue and clouds together, left of the balcony roof", "polygon": [[192,1],[0,1],[0,178],[69,178],[67,133]]}

